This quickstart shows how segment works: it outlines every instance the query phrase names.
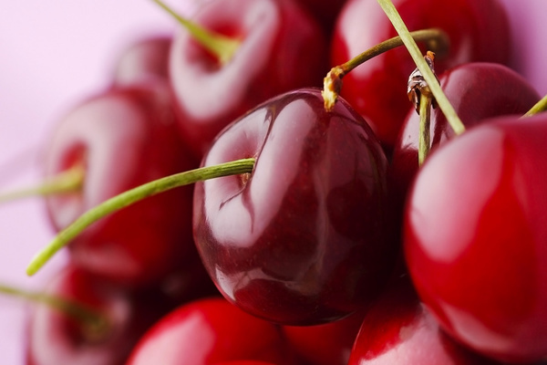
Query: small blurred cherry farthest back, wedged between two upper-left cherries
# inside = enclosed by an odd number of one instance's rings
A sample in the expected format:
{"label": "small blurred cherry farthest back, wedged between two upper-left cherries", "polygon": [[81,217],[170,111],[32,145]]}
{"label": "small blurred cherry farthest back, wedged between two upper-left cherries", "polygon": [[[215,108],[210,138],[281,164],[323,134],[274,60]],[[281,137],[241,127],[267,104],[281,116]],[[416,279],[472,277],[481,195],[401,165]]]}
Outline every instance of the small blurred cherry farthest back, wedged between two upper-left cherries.
{"label": "small blurred cherry farthest back, wedged between two upper-left cherries", "polygon": [[159,35],[131,43],[116,60],[113,83],[131,85],[152,79],[169,78],[169,51],[172,36]]}

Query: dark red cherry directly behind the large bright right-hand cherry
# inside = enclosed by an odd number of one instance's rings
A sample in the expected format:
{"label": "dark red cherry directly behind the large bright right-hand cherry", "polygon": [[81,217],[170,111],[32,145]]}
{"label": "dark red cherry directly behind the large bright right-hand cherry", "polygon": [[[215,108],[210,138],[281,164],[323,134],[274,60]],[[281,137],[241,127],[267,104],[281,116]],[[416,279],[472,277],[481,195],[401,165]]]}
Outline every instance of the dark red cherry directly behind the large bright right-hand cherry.
{"label": "dark red cherry directly behind the large bright right-hand cherry", "polygon": [[[451,68],[439,76],[445,95],[459,119],[470,128],[482,120],[510,114],[524,114],[539,101],[540,95],[511,68],[494,63],[468,63]],[[431,113],[431,151],[434,152],[455,135],[439,108]],[[390,165],[399,203],[418,172],[419,115],[408,112],[397,138]]]}

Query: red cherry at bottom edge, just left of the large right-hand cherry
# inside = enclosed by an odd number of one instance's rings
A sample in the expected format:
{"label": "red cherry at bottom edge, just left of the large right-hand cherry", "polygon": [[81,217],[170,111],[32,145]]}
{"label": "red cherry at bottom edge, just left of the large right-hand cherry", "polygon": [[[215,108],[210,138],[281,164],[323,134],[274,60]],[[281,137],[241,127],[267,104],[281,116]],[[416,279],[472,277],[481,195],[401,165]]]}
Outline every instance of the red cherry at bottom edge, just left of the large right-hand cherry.
{"label": "red cherry at bottom edge, just left of the large right-hand cherry", "polygon": [[409,283],[397,283],[366,313],[349,365],[494,365],[450,339]]}

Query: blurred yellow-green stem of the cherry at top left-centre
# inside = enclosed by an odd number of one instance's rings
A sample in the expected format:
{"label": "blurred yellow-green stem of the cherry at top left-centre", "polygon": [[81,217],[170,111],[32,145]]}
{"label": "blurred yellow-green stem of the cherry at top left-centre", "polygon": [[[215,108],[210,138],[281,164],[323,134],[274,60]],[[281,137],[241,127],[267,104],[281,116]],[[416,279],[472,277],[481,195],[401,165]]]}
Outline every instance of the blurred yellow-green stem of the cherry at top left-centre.
{"label": "blurred yellow-green stem of the cherry at top left-centre", "polygon": [[161,0],[153,1],[167,11],[170,16],[173,16],[181,24],[181,26],[184,26],[190,32],[193,39],[201,45],[201,47],[206,48],[215,57],[217,57],[221,65],[227,64],[232,59],[235,51],[241,43],[238,39],[212,32],[211,30],[199,26],[180,16],[172,8],[170,8],[169,5],[165,4]]}

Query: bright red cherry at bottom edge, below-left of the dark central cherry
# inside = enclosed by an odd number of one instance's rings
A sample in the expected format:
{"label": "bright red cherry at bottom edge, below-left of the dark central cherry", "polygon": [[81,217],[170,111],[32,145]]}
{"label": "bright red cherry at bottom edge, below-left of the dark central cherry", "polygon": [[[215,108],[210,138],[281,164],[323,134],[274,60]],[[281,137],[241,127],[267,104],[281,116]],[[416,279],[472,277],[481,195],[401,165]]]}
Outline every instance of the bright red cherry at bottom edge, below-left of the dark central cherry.
{"label": "bright red cherry at bottom edge, below-left of the dark central cherry", "polygon": [[230,360],[292,364],[281,329],[222,297],[187,303],[140,339],[128,365],[209,365]]}

